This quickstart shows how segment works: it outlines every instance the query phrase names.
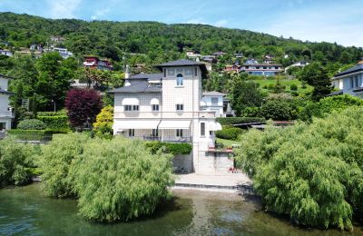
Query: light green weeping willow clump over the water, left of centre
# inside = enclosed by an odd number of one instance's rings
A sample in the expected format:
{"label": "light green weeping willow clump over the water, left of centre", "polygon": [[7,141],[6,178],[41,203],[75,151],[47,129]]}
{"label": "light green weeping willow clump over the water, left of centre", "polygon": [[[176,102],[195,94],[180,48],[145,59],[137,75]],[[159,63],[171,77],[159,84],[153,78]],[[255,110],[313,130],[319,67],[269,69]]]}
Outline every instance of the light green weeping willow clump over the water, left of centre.
{"label": "light green weeping willow clump over the water, left of centre", "polygon": [[171,155],[152,154],[142,141],[65,135],[44,147],[44,191],[75,196],[91,221],[128,221],[151,215],[170,197]]}

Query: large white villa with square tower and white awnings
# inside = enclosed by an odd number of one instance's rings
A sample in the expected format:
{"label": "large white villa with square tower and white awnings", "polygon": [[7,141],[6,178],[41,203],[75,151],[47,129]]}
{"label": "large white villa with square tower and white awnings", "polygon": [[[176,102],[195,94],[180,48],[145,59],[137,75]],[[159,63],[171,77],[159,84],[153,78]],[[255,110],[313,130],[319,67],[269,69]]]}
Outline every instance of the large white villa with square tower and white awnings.
{"label": "large white villa with square tower and white awnings", "polygon": [[[215,117],[221,112],[202,110],[205,101],[201,78],[207,73],[205,64],[177,60],[156,68],[162,73],[126,75],[125,85],[110,92],[114,93],[113,134],[191,143],[192,171],[208,172],[212,165],[208,152],[214,148],[214,133],[221,130]],[[219,109],[220,102],[222,105],[222,99],[218,99]]]}

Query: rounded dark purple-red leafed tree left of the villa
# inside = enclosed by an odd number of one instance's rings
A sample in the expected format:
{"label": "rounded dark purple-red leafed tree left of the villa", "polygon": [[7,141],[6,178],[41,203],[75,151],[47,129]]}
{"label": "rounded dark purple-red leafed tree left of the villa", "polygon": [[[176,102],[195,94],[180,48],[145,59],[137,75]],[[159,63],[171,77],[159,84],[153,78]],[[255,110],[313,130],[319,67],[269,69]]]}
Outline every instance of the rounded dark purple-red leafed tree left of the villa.
{"label": "rounded dark purple-red leafed tree left of the villa", "polygon": [[92,89],[72,89],[65,98],[65,107],[70,123],[81,127],[84,123],[93,123],[102,108],[101,96]]}

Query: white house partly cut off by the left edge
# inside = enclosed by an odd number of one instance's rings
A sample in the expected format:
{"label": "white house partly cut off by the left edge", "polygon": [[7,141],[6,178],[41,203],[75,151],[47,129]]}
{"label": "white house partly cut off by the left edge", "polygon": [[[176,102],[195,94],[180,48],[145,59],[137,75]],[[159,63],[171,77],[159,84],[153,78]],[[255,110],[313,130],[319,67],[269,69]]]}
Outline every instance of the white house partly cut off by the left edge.
{"label": "white house partly cut off by the left edge", "polygon": [[7,91],[8,81],[11,77],[0,74],[0,130],[10,130],[14,113],[9,108],[9,96],[13,93]]}

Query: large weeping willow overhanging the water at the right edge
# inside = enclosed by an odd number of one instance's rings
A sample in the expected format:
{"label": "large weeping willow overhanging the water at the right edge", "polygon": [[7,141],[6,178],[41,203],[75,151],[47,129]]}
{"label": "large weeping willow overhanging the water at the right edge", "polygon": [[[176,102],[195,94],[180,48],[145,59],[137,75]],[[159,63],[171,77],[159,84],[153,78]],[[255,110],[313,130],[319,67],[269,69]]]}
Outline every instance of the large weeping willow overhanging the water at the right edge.
{"label": "large weeping willow overhanging the water at the right edge", "polygon": [[318,228],[351,230],[363,216],[363,109],[243,136],[237,162],[268,211]]}

